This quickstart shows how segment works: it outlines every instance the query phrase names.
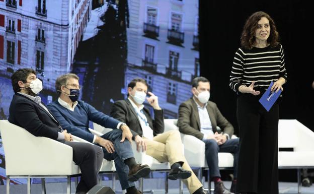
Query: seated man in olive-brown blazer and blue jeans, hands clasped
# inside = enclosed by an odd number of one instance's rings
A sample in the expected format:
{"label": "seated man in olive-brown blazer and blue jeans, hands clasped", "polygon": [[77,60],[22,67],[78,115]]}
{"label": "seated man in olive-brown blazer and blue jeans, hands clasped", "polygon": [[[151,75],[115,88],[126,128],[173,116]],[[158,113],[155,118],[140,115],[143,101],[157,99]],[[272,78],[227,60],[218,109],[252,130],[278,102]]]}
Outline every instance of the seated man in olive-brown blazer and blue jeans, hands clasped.
{"label": "seated man in olive-brown blazer and blue jeans, hands clasped", "polygon": [[[239,138],[230,139],[233,126],[220,113],[217,105],[209,100],[210,83],[204,77],[192,81],[193,97],[179,107],[179,130],[205,142],[205,155],[210,177],[215,182],[214,194],[230,193],[220,180],[218,152],[232,153],[234,156],[234,180],[231,192],[236,189]],[[217,126],[222,133],[217,132]]]}

